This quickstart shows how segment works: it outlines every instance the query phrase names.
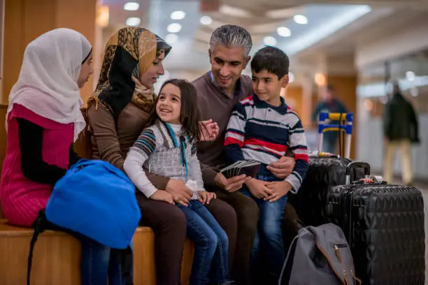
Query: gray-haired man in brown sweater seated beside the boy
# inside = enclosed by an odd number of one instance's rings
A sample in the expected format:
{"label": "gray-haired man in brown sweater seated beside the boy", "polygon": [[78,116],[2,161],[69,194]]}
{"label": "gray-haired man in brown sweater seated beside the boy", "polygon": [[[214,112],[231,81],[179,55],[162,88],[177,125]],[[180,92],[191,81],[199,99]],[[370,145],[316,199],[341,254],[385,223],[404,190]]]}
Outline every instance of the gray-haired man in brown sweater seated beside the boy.
{"label": "gray-haired man in brown sweater seated beside the boy", "polygon": [[[251,36],[243,27],[227,24],[215,29],[208,50],[211,71],[193,82],[198,92],[201,119],[213,119],[220,129],[217,140],[199,142],[198,155],[206,189],[215,192],[217,198],[229,203],[236,211],[237,237],[228,233],[231,277],[236,285],[250,284],[250,254],[259,210],[254,200],[239,191],[250,177],[239,175],[227,179],[219,173],[219,169],[226,166],[223,154],[224,136],[231,112],[236,103],[252,94],[251,78],[241,75],[251,59],[251,47]],[[268,169],[277,177],[285,178],[290,175],[293,167],[294,159],[283,157],[280,161],[271,163]],[[215,217],[220,216],[209,205],[208,209]]]}

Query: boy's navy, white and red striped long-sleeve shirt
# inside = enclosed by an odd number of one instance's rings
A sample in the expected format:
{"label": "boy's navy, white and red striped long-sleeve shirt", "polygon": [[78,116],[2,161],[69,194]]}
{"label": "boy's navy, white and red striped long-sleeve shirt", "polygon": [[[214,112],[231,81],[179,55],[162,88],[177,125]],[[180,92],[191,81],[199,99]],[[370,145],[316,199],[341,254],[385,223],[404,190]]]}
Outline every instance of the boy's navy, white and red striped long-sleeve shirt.
{"label": "boy's navy, white and red striped long-sleeve shirt", "polygon": [[308,148],[299,115],[281,98],[275,107],[259,100],[256,95],[239,102],[231,113],[224,150],[230,163],[254,159],[262,163],[259,174],[273,175],[266,166],[285,156],[287,150],[294,155],[296,164],[285,178],[296,193],[308,170]]}

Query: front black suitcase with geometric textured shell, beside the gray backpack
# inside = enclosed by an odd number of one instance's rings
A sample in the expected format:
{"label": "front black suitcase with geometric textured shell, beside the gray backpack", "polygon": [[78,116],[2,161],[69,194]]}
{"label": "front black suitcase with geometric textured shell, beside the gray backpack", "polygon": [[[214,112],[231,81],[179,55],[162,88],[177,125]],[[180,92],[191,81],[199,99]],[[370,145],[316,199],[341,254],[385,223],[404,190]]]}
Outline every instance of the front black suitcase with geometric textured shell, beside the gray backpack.
{"label": "front black suitcase with geometric textured shell, beside the gray backpack", "polygon": [[362,284],[425,284],[425,214],[415,187],[351,182],[355,168],[370,174],[368,163],[347,168],[347,184],[331,187],[328,220],[340,226],[350,244]]}

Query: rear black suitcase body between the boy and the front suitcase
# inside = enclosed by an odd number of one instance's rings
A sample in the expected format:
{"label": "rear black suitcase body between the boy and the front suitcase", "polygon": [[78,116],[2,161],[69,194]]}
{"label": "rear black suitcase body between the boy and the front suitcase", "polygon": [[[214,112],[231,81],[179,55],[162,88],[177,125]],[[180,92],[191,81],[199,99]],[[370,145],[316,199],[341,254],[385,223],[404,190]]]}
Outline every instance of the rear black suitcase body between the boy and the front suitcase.
{"label": "rear black suitcase body between the boy and the front suitcase", "polygon": [[329,187],[345,184],[346,166],[350,159],[310,158],[309,168],[297,194],[289,194],[299,219],[306,226],[326,224],[325,205]]}

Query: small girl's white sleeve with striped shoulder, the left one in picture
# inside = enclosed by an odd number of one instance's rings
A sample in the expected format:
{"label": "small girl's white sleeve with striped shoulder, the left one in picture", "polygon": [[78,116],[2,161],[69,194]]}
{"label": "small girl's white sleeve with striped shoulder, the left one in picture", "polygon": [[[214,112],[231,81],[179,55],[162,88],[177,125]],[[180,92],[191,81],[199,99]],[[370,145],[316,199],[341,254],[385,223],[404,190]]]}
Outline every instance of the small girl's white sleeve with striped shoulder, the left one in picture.
{"label": "small girl's white sleeve with striped shoulder, the left one in picture", "polygon": [[149,158],[150,154],[155,151],[155,148],[155,134],[150,129],[146,129],[138,137],[131,150],[129,150],[123,164],[123,168],[129,179],[147,198],[150,198],[157,191],[157,188],[148,180],[147,175],[145,175],[143,164]]}

